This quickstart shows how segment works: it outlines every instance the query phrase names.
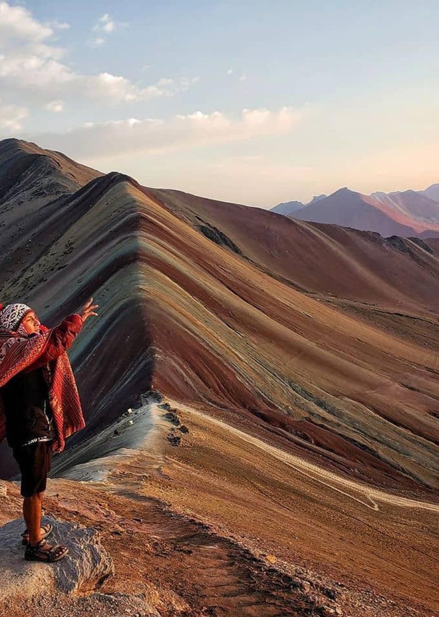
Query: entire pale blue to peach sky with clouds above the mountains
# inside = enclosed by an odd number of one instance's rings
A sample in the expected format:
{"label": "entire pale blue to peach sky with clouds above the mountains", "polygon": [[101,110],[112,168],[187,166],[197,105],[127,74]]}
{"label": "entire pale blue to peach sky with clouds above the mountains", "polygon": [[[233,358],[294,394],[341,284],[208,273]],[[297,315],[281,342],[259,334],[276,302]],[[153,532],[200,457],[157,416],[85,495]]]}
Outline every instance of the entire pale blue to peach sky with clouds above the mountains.
{"label": "entire pale blue to peach sky with clouds above the mountains", "polygon": [[0,1],[0,138],[261,207],[439,181],[436,1]]}

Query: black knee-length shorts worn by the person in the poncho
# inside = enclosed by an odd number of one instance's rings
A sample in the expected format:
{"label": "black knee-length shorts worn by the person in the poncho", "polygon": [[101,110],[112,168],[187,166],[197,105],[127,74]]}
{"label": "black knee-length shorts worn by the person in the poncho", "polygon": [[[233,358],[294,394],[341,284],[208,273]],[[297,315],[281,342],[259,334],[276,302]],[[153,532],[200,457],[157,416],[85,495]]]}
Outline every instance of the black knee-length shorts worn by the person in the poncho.
{"label": "black knee-length shorts worn by the person in the poncho", "polygon": [[22,497],[31,497],[45,491],[52,466],[52,442],[37,441],[35,444],[20,445],[12,452],[22,473]]}

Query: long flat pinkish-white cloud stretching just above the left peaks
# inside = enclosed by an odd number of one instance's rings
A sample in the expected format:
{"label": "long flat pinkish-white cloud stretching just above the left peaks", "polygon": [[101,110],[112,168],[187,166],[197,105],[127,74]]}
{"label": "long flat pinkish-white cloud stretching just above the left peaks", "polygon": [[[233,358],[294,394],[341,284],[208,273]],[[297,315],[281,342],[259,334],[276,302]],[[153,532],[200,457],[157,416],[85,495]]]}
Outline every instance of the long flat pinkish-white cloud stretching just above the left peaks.
{"label": "long flat pinkish-white cloud stretching just above the left peaks", "polygon": [[70,156],[105,158],[130,152],[164,152],[196,146],[245,141],[262,135],[290,133],[303,112],[290,107],[277,111],[244,109],[237,118],[212,112],[176,115],[169,120],[146,118],[87,123],[67,133],[32,135],[44,147]]}

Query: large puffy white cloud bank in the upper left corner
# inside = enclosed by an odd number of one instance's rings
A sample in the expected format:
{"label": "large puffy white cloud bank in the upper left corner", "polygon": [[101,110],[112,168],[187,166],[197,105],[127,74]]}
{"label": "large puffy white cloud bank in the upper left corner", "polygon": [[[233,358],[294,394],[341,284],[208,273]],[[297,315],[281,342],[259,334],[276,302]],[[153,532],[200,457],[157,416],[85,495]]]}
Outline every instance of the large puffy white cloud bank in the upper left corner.
{"label": "large puffy white cloud bank in the upper left corner", "polygon": [[[99,23],[108,26],[111,17],[104,14]],[[0,91],[7,90],[9,97],[24,95],[28,105],[84,98],[117,104],[174,96],[196,81],[183,77],[141,88],[121,75],[83,75],[63,61],[65,50],[51,43],[53,35],[54,30],[34,19],[25,7],[0,1]],[[102,36],[94,39],[95,46],[101,44],[100,39],[104,40]]]}

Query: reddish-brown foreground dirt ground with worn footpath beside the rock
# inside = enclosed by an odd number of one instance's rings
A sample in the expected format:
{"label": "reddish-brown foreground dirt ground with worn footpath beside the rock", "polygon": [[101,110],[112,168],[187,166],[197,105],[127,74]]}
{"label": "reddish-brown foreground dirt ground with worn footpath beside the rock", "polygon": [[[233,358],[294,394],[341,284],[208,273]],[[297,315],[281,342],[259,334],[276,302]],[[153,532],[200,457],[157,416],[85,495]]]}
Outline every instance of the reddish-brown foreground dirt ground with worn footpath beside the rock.
{"label": "reddish-brown foreground dirt ground with worn footpath beside the rock", "polygon": [[[48,497],[46,513],[102,532],[102,544],[115,563],[115,576],[102,589],[110,597],[146,594],[163,617],[328,615],[306,597],[298,581],[212,533],[203,523],[168,511],[159,500],[128,491],[106,494],[65,480],[52,481],[50,493],[65,497]],[[19,505],[18,493],[9,494],[9,505],[13,503]],[[96,610],[94,598],[89,602],[89,608]],[[85,610],[85,598],[65,598],[61,605],[48,598],[44,615],[79,615],[75,611],[80,606]],[[38,607],[30,601],[8,607],[7,614],[36,617]],[[96,615],[114,615],[111,606],[101,604],[99,610]],[[123,614],[134,617],[138,609]]]}

